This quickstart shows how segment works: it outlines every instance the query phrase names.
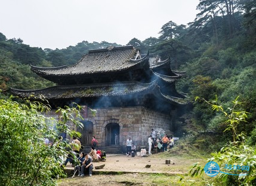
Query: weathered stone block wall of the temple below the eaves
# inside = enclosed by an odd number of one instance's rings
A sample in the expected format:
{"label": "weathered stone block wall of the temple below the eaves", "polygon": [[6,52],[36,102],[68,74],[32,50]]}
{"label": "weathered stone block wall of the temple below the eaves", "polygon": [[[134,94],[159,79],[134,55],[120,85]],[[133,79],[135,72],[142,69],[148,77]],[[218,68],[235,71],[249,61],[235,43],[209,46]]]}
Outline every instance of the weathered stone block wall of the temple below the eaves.
{"label": "weathered stone block wall of the temple below the eaves", "polygon": [[[93,124],[93,135],[98,140],[99,146],[105,146],[106,130],[105,127],[110,123],[119,124],[119,144],[125,147],[128,137],[138,148],[148,146],[147,139],[151,133],[151,129],[161,128],[162,130],[171,129],[171,116],[156,111],[151,111],[143,106],[128,108],[98,108],[96,116],[92,116],[90,111],[82,111],[81,115],[85,120],[91,121]],[[48,113],[54,116],[55,111]],[[56,115],[54,116],[55,118]],[[71,124],[70,124],[71,125]],[[72,130],[77,130],[75,126],[71,126]],[[86,134],[83,134],[86,135]]]}

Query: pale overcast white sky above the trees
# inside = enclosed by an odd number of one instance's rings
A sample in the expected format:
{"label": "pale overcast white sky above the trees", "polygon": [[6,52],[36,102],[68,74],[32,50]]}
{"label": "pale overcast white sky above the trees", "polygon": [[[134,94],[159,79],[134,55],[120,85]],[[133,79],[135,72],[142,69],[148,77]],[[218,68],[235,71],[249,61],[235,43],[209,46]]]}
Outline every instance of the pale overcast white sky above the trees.
{"label": "pale overcast white sky above the trees", "polygon": [[127,45],[196,18],[199,0],[0,0],[0,33],[42,49],[88,42]]}

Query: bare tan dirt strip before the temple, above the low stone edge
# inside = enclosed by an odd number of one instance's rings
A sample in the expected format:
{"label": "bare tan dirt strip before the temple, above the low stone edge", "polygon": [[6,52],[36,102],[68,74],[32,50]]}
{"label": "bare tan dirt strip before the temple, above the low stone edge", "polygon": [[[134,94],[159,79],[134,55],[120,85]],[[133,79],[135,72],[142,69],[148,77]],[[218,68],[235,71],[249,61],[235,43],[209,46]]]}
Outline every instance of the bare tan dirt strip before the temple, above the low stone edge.
{"label": "bare tan dirt strip before the temple, above the low stone edge", "polygon": [[[166,152],[165,155],[168,155]],[[171,161],[166,164],[166,159]],[[195,162],[200,162],[201,159],[184,159],[183,157],[151,155],[147,157],[140,156],[125,156],[125,155],[109,155],[106,162],[94,162],[93,165],[98,166],[105,164],[103,169],[94,169],[94,172],[132,172],[132,173],[164,173],[164,174],[184,174],[189,171],[189,167]],[[146,168],[150,165],[150,168]],[[67,169],[73,169],[67,166]]]}

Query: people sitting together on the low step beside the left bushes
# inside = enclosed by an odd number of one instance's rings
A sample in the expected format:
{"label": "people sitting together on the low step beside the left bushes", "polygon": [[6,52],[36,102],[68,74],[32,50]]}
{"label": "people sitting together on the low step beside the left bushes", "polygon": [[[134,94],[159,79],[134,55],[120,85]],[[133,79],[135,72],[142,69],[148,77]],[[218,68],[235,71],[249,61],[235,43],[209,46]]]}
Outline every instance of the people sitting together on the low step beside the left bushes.
{"label": "people sitting together on the low step beside the left bushes", "polygon": [[97,144],[98,141],[93,136],[91,140],[91,152],[88,154],[80,152],[82,143],[79,138],[74,136],[71,143],[72,150],[70,150],[70,152],[68,153],[64,165],[66,166],[68,162],[75,165],[74,175],[76,174],[76,172],[78,172],[78,176],[85,176],[85,172],[88,172],[89,176],[91,176],[93,169],[92,162],[98,161],[98,159],[101,158],[101,151],[95,150]]}

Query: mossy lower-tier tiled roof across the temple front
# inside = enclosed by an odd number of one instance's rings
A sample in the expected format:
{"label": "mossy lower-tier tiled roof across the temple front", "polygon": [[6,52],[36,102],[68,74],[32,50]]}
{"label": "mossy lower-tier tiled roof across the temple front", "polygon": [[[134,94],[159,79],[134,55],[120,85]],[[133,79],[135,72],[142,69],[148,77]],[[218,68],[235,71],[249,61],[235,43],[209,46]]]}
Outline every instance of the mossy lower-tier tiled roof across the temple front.
{"label": "mossy lower-tier tiled roof across the temple front", "polygon": [[43,95],[44,99],[72,99],[82,97],[122,96],[141,92],[151,93],[155,87],[157,87],[156,81],[152,83],[129,81],[124,83],[89,84],[81,86],[54,86],[40,90],[11,89],[11,92],[21,98],[35,96],[36,99]]}

